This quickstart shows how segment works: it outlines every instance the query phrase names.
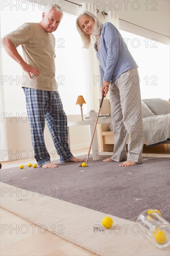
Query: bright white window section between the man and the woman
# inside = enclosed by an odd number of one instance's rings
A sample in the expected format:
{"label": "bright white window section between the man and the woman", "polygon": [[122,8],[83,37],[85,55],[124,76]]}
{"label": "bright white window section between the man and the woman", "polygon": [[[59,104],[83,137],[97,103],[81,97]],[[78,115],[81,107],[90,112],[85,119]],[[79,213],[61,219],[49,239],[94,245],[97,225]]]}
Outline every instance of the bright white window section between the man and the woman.
{"label": "bright white window section between the man and the woman", "polygon": [[[85,71],[82,41],[76,28],[76,16],[64,13],[56,31],[56,80],[67,115],[80,114],[78,95],[85,97]],[[55,34],[54,34],[55,35]],[[87,112],[86,105],[83,112]]]}

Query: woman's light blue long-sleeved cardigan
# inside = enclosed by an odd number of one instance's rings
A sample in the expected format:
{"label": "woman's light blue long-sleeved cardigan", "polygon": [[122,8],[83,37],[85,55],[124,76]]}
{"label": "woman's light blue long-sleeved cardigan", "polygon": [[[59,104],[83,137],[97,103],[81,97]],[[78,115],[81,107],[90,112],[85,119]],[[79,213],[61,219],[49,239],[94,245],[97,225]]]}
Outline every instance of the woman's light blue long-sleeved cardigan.
{"label": "woman's light blue long-sleeved cardigan", "polygon": [[106,22],[102,27],[99,52],[97,43],[94,48],[100,63],[101,86],[103,80],[112,83],[125,71],[138,67],[118,29],[110,22]]}

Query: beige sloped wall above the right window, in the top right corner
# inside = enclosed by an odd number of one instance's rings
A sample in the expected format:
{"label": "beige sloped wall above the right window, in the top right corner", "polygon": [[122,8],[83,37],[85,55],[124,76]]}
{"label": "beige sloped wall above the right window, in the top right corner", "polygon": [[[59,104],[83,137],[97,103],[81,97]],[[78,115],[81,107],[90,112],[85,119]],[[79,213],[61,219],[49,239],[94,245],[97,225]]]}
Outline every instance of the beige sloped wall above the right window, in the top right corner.
{"label": "beige sloped wall above the right window, in the top right corner", "polygon": [[[99,12],[105,10],[114,11],[118,13],[118,17],[121,20],[125,20],[136,24],[140,27],[153,30],[154,32],[163,34],[153,33],[151,31],[143,31],[139,27],[131,27],[130,24],[120,21],[120,29],[125,30],[134,34],[139,34],[144,37],[157,37],[158,40],[168,43],[170,37],[170,1],[169,0],[73,0],[73,2],[81,3],[86,2],[93,4],[94,10],[99,9]],[[133,29],[133,31],[131,30]]]}

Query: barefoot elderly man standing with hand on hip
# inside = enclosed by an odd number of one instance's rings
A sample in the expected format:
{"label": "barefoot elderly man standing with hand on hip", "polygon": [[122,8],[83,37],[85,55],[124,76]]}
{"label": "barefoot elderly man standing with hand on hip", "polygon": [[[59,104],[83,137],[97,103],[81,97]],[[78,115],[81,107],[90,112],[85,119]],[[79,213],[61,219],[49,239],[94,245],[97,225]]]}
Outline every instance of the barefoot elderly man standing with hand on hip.
{"label": "barefoot elderly man standing with hand on hip", "polygon": [[[3,38],[4,48],[23,69],[22,88],[30,122],[34,157],[42,168],[55,168],[44,141],[45,121],[61,162],[82,162],[72,155],[67,143],[67,118],[55,80],[55,37],[63,13],[51,4],[39,23],[24,23]],[[17,51],[23,49],[23,58]]]}

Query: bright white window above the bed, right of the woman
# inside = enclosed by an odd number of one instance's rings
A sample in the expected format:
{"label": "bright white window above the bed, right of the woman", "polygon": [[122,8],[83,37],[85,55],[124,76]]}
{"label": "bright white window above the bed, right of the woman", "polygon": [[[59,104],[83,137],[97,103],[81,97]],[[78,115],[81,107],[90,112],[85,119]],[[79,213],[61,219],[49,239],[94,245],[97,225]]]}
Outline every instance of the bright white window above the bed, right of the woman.
{"label": "bright white window above the bed, right of the woman", "polygon": [[120,30],[138,65],[141,98],[163,98],[170,95],[170,47],[156,40]]}

